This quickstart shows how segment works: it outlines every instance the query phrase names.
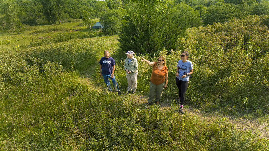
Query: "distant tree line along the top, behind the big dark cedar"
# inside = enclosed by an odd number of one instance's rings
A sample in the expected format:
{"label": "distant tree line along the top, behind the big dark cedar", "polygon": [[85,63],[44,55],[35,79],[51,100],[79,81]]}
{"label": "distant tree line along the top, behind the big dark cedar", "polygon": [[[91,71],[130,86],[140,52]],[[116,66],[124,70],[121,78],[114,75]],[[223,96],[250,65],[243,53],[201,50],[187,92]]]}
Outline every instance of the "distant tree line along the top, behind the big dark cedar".
{"label": "distant tree line along the top, behind the big dark cedar", "polygon": [[[233,18],[242,19],[247,15],[269,15],[268,0],[0,0],[0,3],[1,24],[3,28],[11,29],[16,28],[17,22],[36,25],[61,23],[62,20],[68,19],[82,19],[83,11],[91,13],[94,17],[100,17],[101,12],[107,12],[109,9],[128,10],[130,9],[128,4],[147,5],[148,12],[155,11],[153,9],[166,12],[171,7],[185,3],[200,13],[203,25],[213,24],[214,22],[224,23]],[[134,9],[137,9],[137,7]],[[10,22],[7,20],[10,20]],[[8,27],[5,25],[8,25]]]}

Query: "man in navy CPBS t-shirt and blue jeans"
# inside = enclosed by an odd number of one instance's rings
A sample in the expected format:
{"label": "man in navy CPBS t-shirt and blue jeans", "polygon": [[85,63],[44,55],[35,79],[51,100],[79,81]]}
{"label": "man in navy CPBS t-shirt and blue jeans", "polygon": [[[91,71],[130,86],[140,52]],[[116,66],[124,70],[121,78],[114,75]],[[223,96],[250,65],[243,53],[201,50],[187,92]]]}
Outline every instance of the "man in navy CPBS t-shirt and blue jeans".
{"label": "man in navy CPBS t-shirt and blue jeans", "polygon": [[[104,57],[101,58],[100,60],[100,76],[104,78],[104,82],[108,87],[109,91],[112,91],[109,79],[111,79],[113,85],[115,88],[117,88],[118,94],[121,94],[119,90],[119,85],[117,83],[117,80],[114,76],[114,70],[115,70],[115,60],[111,57],[109,57],[109,52],[107,50],[104,51]],[[108,79],[109,78],[109,79]]]}

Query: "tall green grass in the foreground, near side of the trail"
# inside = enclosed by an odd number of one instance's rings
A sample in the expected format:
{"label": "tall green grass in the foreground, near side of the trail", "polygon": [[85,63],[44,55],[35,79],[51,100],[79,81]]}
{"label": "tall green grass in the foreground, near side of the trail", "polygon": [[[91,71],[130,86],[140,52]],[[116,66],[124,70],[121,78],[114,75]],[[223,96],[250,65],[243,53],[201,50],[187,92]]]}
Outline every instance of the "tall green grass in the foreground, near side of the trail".
{"label": "tall green grass in the foreground, near side of the trail", "polygon": [[[40,79],[1,97],[1,148],[17,150],[257,150],[268,140],[235,130],[226,119],[206,123],[128,95],[89,90],[76,72]],[[23,99],[22,99],[23,97]]]}

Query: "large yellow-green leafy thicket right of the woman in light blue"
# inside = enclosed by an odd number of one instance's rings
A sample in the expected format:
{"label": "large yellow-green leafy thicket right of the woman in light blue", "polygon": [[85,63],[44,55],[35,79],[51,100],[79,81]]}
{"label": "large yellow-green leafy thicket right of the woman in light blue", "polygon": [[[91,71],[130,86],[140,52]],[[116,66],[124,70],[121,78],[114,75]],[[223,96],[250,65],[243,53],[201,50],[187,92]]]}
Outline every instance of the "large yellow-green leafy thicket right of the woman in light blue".
{"label": "large yellow-green leafy thicket right of the woman in light blue", "polygon": [[190,52],[197,93],[237,106],[244,98],[249,100],[247,107],[266,106],[268,31],[258,16],[188,29],[178,50]]}

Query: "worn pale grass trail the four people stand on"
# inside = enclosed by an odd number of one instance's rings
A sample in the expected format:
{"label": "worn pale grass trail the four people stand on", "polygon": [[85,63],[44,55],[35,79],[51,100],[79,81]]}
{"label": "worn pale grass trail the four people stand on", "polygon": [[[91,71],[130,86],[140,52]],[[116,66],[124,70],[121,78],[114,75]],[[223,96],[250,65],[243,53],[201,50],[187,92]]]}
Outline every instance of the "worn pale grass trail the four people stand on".
{"label": "worn pale grass trail the four people stand on", "polygon": [[[105,84],[97,85],[94,83],[95,80],[103,80],[101,78],[95,79],[95,77],[93,77],[94,72],[97,72],[95,71],[95,69],[97,69],[97,66],[99,66],[98,61],[95,62],[93,66],[85,69],[84,74],[80,76],[80,81],[82,83],[85,83],[90,89],[97,90],[98,92],[102,91],[105,92],[107,91]],[[143,95],[139,92],[137,92],[136,94],[126,94],[125,89],[121,89],[121,91],[123,92],[122,96],[129,95],[130,102],[134,102],[137,104],[145,104],[146,107],[148,97],[147,95]],[[162,110],[170,110],[171,100],[165,98],[164,101],[160,102],[160,106]],[[220,111],[218,110],[214,111],[214,110],[199,109],[197,107],[190,106],[188,104],[185,105],[184,112],[185,114],[199,117],[201,120],[205,120],[208,123],[212,123],[215,120],[224,119],[226,121],[229,121],[237,129],[242,129],[244,131],[251,131],[252,134],[257,135],[260,138],[269,138],[268,115],[259,118],[253,113],[249,113],[248,115],[238,113],[237,115],[233,116],[233,115],[226,115],[225,113],[220,113]]]}

